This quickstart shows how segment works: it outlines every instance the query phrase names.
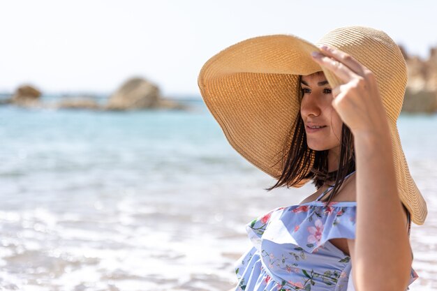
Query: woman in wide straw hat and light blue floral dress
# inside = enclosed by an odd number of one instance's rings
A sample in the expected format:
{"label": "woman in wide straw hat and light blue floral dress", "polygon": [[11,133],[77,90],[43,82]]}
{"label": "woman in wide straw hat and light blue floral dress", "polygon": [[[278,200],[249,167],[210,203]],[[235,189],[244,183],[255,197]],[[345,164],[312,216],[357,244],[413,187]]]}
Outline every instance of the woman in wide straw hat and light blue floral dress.
{"label": "woman in wide straw hat and light blue floral dress", "polygon": [[408,290],[410,220],[427,207],[397,132],[406,64],[387,34],[244,40],[207,61],[199,87],[232,147],[278,180],[269,189],[317,188],[246,225],[237,290]]}

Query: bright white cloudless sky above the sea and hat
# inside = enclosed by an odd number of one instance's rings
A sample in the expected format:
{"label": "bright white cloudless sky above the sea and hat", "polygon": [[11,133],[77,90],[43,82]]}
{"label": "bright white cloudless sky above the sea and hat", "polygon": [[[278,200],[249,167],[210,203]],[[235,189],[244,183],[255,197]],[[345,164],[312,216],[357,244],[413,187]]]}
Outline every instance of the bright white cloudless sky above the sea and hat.
{"label": "bright white cloudless sky above the sea and hat", "polygon": [[316,42],[346,25],[385,31],[410,54],[437,45],[437,1],[0,1],[0,92],[110,94],[144,77],[170,98],[200,96],[210,57],[267,34]]}

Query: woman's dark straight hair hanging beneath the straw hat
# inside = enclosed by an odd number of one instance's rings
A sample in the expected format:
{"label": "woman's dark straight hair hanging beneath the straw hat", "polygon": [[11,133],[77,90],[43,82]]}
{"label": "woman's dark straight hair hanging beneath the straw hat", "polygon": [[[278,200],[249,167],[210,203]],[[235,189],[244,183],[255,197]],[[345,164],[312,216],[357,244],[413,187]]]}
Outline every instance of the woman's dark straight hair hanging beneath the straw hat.
{"label": "woman's dark straight hair hanging beneath the straw hat", "polygon": [[[302,88],[299,77],[299,100],[302,99]],[[326,181],[335,181],[334,188],[329,194],[327,202],[331,202],[332,197],[339,192],[344,178],[355,171],[355,154],[353,146],[353,135],[346,124],[341,128],[340,137],[340,159],[338,170],[328,172],[327,154],[328,151],[315,151],[306,144],[306,132],[301,114],[297,114],[295,121],[291,126],[288,140],[291,139],[291,144],[284,142],[283,152],[281,156],[282,174],[276,184],[266,188],[271,191],[274,188],[286,186],[290,188],[304,179],[312,179],[316,188],[320,188]],[[311,165],[311,161],[313,163]]]}

